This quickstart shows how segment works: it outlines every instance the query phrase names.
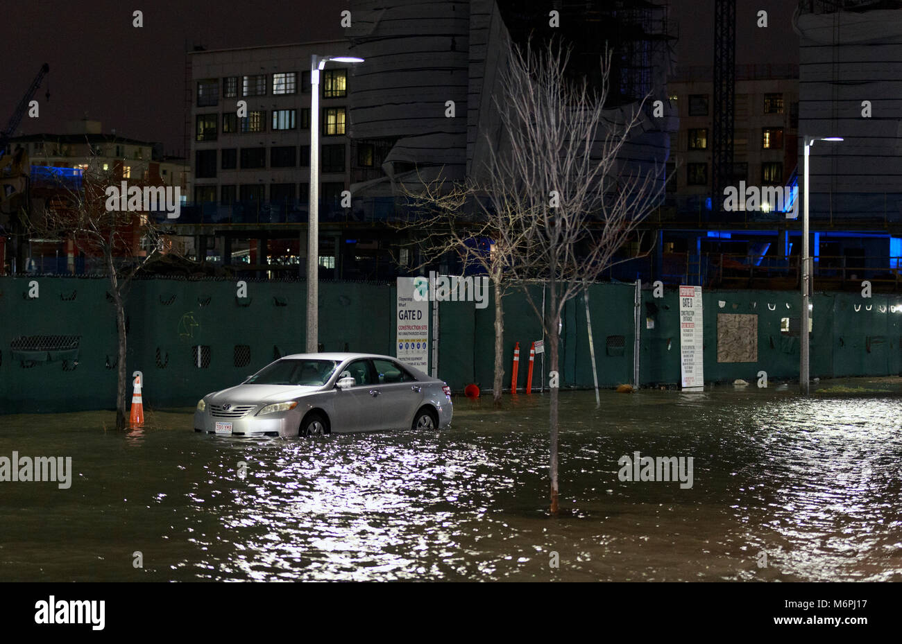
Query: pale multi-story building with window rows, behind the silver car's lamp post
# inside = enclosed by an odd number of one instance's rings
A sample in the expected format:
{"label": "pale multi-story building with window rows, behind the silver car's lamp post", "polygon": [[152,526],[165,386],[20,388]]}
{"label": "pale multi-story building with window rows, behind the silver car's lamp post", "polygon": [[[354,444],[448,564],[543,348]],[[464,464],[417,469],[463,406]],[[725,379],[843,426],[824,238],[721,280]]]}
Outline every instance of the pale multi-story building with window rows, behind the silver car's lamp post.
{"label": "pale multi-story building with window rows, behind the silver car's lamp post", "polygon": [[320,264],[335,270],[350,186],[347,65],[319,78],[320,122],[310,122],[312,55],[347,55],[346,41],[189,52],[192,206],[179,228],[198,259],[303,274],[306,268],[310,128],[320,134]]}

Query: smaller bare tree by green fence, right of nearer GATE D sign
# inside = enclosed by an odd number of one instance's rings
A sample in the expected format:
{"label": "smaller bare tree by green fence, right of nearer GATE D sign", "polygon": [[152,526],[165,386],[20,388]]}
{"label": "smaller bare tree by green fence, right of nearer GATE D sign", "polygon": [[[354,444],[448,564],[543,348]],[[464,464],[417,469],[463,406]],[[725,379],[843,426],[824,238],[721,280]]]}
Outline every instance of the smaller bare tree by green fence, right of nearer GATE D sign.
{"label": "smaller bare tree by green fence, right of nearer GATE D sign", "polygon": [[[503,297],[511,289],[508,279],[516,261],[518,232],[526,231],[514,220],[522,213],[506,208],[495,210],[485,198],[485,187],[474,181],[451,182],[441,177],[427,181],[419,176],[416,186],[401,184],[401,190],[417,211],[401,228],[417,231],[419,249],[426,258],[414,268],[424,268],[446,254],[455,254],[465,267],[483,268],[494,293],[494,372],[492,402],[502,404],[504,390],[504,307]],[[492,240],[486,252],[478,241]]]}

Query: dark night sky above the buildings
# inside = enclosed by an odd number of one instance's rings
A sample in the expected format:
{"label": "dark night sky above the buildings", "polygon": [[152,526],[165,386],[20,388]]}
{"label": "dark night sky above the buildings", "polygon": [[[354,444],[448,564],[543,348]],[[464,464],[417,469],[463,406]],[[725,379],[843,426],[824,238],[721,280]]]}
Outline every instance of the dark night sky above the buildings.
{"label": "dark night sky above the buildings", "polygon": [[[670,0],[680,25],[681,64],[710,65],[714,0]],[[329,0],[87,0],[5,7],[0,59],[0,123],[5,124],[32,78],[47,62],[51,102],[39,90],[40,123],[26,133],[61,132],[87,112],[104,131],[183,148],[186,42],[222,49],[340,38],[339,14],[349,3]],[[737,1],[737,64],[796,62],[790,0]],[[132,26],[141,9],[144,26]],[[760,9],[769,28],[755,26]],[[563,16],[566,18],[566,16]]]}

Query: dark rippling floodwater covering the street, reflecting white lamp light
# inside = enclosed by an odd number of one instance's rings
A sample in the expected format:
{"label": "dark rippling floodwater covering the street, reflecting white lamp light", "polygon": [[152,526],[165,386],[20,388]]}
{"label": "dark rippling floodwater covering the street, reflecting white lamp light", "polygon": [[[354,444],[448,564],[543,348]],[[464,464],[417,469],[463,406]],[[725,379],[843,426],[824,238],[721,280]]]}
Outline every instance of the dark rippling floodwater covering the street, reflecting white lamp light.
{"label": "dark rippling floodwater covering the street, reflecting white lamp light", "polygon": [[[3,416],[0,456],[73,476],[0,482],[0,579],[902,580],[900,387],[865,386],[888,391],[562,393],[557,518],[548,395],[320,439],[201,435],[191,410],[128,434]],[[694,458],[692,487],[621,481],[636,451]]]}

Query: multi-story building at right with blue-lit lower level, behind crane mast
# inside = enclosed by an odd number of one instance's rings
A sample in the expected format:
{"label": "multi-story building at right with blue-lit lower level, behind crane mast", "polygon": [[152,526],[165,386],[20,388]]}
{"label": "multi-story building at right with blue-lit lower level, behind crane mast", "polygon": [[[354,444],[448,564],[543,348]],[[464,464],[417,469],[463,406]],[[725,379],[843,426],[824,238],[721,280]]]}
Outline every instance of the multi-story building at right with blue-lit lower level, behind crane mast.
{"label": "multi-story building at right with blue-lit lower level, behind crane mast", "polygon": [[[731,187],[789,188],[796,195],[798,67],[736,68]],[[667,95],[679,116],[667,160],[667,208],[656,224],[655,278],[712,284],[747,264],[786,268],[793,249],[786,204],[767,201],[755,210],[724,212],[713,195],[713,68],[676,68]],[[720,203],[714,200],[719,200]],[[745,204],[745,196],[742,196]],[[796,244],[797,254],[798,244]],[[764,261],[764,258],[767,261]]]}

